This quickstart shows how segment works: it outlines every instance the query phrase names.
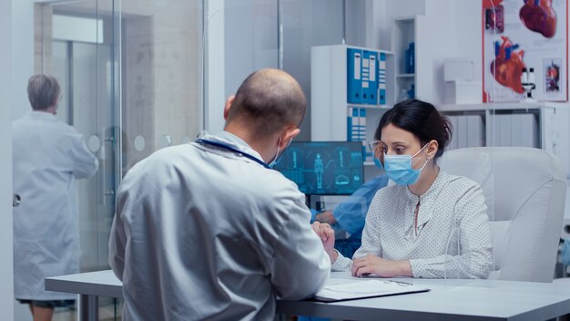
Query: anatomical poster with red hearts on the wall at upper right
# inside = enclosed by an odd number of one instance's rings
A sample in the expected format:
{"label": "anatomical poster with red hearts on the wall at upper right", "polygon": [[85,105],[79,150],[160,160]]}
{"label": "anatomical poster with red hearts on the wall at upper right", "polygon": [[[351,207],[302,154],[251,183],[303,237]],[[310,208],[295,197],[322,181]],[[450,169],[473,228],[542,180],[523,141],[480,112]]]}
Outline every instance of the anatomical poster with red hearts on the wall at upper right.
{"label": "anatomical poster with red hearts on the wall at upper right", "polygon": [[483,101],[568,100],[567,13],[568,0],[483,0]]}

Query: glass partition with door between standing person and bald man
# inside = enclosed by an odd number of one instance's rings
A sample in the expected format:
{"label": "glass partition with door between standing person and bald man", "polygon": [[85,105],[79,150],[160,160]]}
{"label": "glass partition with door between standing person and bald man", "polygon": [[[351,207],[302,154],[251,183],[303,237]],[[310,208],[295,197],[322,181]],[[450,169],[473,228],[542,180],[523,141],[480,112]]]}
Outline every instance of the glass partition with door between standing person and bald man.
{"label": "glass partition with door between standing person and bald man", "polygon": [[[35,71],[58,79],[56,117],[83,135],[99,161],[97,174],[77,183],[80,269],[108,269],[121,178],[201,129],[202,0],[80,0],[35,10]],[[120,317],[116,302],[101,298],[99,317]],[[56,311],[56,318],[73,314]]]}

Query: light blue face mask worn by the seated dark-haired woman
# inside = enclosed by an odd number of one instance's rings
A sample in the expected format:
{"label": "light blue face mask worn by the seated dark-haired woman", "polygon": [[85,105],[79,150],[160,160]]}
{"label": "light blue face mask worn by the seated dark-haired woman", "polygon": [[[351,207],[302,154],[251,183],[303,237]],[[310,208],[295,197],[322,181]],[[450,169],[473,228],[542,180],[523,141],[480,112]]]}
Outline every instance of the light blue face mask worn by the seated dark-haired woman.
{"label": "light blue face mask worn by the seated dark-haired woman", "polygon": [[[427,146],[425,144],[422,147],[422,150]],[[412,158],[416,157],[420,151],[410,155],[386,155],[384,154],[384,166],[383,169],[386,172],[386,175],[398,185],[412,185],[415,184],[416,181],[420,178],[420,174],[422,173],[423,168],[428,163],[425,161],[422,168],[414,170],[412,168]],[[376,166],[379,166],[382,169],[382,163],[377,159],[374,160]]]}

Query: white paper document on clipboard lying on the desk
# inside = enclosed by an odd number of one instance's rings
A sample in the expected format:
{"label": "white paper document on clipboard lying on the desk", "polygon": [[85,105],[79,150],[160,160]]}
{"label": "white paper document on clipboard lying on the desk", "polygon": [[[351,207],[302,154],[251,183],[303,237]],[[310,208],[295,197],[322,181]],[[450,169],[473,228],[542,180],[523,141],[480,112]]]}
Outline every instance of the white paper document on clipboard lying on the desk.
{"label": "white paper document on clipboard lying on the desk", "polygon": [[375,296],[405,295],[427,291],[430,291],[430,289],[402,281],[368,280],[326,285],[315,295],[315,299],[323,302],[333,302]]}

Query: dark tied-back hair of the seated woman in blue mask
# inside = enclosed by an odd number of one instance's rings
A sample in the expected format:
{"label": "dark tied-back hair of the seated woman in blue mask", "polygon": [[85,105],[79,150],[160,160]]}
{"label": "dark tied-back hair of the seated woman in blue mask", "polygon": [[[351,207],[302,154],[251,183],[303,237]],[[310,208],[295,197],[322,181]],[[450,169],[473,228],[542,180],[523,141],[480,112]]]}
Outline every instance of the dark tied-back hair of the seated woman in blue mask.
{"label": "dark tied-back hair of the seated woman in blue mask", "polygon": [[437,140],[439,149],[435,158],[443,155],[443,150],[452,140],[452,124],[449,119],[429,102],[417,99],[404,100],[394,105],[382,115],[374,140],[382,140],[382,129],[389,124],[411,132],[422,145]]}

